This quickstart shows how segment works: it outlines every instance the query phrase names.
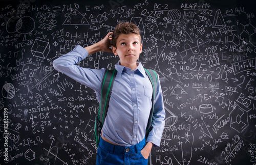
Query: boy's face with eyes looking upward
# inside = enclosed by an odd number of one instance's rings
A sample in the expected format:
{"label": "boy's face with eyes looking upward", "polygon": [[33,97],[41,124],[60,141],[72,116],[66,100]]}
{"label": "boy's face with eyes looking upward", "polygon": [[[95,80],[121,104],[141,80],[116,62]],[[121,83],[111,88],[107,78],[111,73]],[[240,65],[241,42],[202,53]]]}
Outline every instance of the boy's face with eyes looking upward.
{"label": "boy's face with eyes looking upward", "polygon": [[132,70],[137,67],[137,60],[142,52],[140,36],[137,34],[121,34],[117,38],[116,47],[112,47],[114,54],[119,56],[120,65]]}

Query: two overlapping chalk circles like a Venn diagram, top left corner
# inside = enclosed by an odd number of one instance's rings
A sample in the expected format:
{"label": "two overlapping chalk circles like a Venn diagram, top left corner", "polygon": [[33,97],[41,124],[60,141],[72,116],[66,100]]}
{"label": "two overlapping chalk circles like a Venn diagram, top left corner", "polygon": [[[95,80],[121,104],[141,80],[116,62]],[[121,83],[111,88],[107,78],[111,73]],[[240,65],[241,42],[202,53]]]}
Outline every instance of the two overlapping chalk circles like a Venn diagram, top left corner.
{"label": "two overlapping chalk circles like a Venn diagram, top left corner", "polygon": [[30,16],[11,17],[6,23],[6,31],[8,33],[20,33],[20,34],[29,34],[35,29],[35,21]]}

